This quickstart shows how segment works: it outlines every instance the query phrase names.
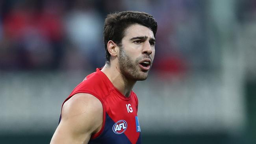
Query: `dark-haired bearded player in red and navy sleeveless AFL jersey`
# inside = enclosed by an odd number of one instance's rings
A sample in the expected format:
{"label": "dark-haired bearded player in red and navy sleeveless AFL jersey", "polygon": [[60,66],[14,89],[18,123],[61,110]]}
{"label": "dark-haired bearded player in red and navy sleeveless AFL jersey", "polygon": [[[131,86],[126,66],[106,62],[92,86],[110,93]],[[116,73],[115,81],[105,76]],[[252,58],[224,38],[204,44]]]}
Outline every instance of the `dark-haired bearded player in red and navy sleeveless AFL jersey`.
{"label": "dark-haired bearded player in red and navy sleeveless AFL jersey", "polygon": [[155,54],[156,20],[149,14],[109,14],[104,25],[106,65],[88,75],[63,103],[51,144],[140,144],[138,99]]}

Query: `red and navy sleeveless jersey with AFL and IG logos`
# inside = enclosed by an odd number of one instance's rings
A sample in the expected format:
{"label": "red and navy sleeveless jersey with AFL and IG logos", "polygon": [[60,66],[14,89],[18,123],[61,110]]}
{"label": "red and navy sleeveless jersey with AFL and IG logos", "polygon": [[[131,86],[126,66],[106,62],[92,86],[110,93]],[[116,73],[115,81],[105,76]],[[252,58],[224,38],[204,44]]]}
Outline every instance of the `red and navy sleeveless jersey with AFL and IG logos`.
{"label": "red and navy sleeveless jersey with AFL and IG logos", "polygon": [[126,98],[100,70],[89,74],[64,103],[77,93],[91,94],[102,103],[102,128],[91,136],[88,144],[141,144],[136,94],[132,91]]}

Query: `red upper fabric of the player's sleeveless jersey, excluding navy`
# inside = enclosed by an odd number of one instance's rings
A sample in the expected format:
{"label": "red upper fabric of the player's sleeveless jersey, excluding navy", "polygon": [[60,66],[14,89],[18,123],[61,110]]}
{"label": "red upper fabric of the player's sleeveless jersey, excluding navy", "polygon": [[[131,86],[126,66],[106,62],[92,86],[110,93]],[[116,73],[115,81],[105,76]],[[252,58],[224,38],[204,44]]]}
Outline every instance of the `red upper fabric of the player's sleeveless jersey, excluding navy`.
{"label": "red upper fabric of the player's sleeveless jersey, excluding navy", "polygon": [[[138,100],[136,94],[132,91],[130,96],[126,98],[121,92],[116,89],[108,77],[100,71],[99,68],[96,72],[89,74],[69,95],[64,103],[69,100],[74,94],[88,93],[92,94],[103,106],[103,126],[101,130],[92,135],[91,138],[98,137],[105,126],[106,113],[114,121],[125,120],[127,122],[127,129],[124,131],[126,137],[135,144],[139,138],[140,133],[136,132],[135,116],[137,116]],[[63,104],[64,104],[63,103]],[[133,112],[128,113],[126,104],[130,104]],[[111,126],[112,127],[112,126]],[[112,129],[111,129],[112,131]]]}

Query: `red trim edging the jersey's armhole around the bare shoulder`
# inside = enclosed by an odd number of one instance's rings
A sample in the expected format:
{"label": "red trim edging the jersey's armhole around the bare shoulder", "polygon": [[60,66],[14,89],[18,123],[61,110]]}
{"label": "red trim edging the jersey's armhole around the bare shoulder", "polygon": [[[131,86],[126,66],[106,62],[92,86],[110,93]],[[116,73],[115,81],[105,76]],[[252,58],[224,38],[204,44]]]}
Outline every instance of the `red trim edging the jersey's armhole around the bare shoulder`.
{"label": "red trim edging the jersey's armhole around the bare shoulder", "polygon": [[[95,93],[93,93],[93,92],[91,92],[91,91],[88,91],[88,90],[78,90],[78,91],[76,91],[76,92],[72,92],[72,96],[74,96],[75,94],[78,94],[78,93],[87,93],[87,94],[91,94],[91,95],[95,96],[98,100],[100,100],[100,102],[101,102],[101,104],[102,104],[102,108],[103,108],[102,127],[101,127],[101,129],[100,129],[99,132],[97,132],[97,133],[91,135],[91,139],[94,139],[94,138],[98,137],[98,136],[102,133],[102,131],[103,131],[104,127],[105,127],[105,121],[106,121],[106,107],[105,107],[104,101],[103,101],[102,98],[100,98],[98,95],[96,95]],[[64,103],[67,102],[67,100],[69,100],[69,98],[71,98],[72,96],[69,96],[69,97],[63,102],[62,107],[63,107]],[[61,107],[61,111],[62,111],[62,107]],[[59,122],[60,122],[60,121],[61,121],[61,116],[60,116]]]}

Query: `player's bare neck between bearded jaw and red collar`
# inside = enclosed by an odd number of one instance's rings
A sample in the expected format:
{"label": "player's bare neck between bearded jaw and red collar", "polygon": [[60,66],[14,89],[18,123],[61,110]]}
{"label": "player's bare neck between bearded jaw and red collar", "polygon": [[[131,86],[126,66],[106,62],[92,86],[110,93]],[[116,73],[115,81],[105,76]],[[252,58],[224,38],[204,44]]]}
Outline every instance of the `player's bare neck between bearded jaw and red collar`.
{"label": "player's bare neck between bearded jaw and red collar", "polygon": [[106,74],[114,87],[116,87],[126,98],[130,96],[136,81],[128,80],[123,76],[119,67],[117,65],[113,65],[113,63],[111,63],[110,66],[106,64],[101,71]]}

